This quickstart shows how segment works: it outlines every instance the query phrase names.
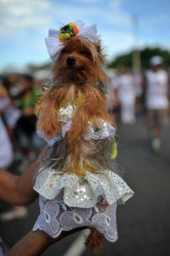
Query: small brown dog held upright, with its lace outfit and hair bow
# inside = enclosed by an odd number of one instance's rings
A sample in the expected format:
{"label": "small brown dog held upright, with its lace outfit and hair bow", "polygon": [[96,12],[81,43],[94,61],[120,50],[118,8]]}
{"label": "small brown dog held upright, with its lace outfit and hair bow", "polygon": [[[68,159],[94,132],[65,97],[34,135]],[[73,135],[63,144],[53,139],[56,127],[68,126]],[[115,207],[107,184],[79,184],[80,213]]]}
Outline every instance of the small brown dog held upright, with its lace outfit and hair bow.
{"label": "small brown dog held upright, with its lace outfit and hair bow", "polygon": [[[124,202],[132,191],[116,174],[111,157],[115,127],[106,103],[101,42],[93,35],[95,26],[78,24],[80,33],[76,24],[69,23],[60,35],[50,29],[46,40],[55,61],[52,86],[43,93],[36,114],[39,134],[50,147],[41,158],[34,184],[40,195],[41,223],[33,230],[57,237],[60,230],[90,227],[86,244],[99,252],[101,234],[108,241],[117,240],[117,201],[122,197]],[[55,214],[54,220],[49,218],[52,223],[43,215],[46,204],[53,209],[47,213]]]}

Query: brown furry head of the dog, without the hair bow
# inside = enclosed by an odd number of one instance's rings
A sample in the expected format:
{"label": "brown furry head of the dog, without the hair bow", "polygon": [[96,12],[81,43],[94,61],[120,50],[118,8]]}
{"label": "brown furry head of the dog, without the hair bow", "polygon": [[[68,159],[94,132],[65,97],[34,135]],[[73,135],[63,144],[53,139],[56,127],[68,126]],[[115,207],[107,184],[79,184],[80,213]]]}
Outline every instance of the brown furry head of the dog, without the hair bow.
{"label": "brown furry head of the dog, without the hair bow", "polygon": [[64,49],[53,65],[54,79],[61,83],[104,83],[104,56],[99,40],[92,43],[85,38],[71,38],[63,44]]}

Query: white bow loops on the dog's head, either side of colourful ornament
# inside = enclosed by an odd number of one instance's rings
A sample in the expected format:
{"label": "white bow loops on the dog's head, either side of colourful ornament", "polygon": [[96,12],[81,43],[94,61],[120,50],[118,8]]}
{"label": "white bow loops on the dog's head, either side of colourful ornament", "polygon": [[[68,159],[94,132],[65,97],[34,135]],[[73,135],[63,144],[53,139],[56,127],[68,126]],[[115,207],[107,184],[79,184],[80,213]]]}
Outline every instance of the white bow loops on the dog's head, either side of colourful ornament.
{"label": "white bow loops on the dog's head, either side of colourful ornament", "polygon": [[[78,28],[78,33],[76,36],[80,36],[82,38],[87,38],[90,42],[96,42],[97,40],[97,29],[96,24],[91,26],[85,26],[82,20],[76,20],[73,22]],[[48,37],[45,38],[46,47],[48,49],[48,53],[50,58],[53,61],[57,61],[62,49],[64,49],[64,44],[59,40],[60,30],[59,29],[49,29]]]}

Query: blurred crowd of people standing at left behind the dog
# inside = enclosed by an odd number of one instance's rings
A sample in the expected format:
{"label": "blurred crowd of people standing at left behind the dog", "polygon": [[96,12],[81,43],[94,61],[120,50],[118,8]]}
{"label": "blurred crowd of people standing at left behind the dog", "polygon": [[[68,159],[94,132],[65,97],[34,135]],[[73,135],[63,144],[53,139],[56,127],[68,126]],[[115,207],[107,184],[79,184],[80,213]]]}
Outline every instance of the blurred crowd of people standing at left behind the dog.
{"label": "blurred crowd of people standing at left behind the dog", "polygon": [[[13,157],[22,162],[25,159],[27,161],[35,159],[39,148],[43,145],[43,141],[36,135],[36,116],[34,115],[36,97],[40,94],[39,83],[29,75],[20,78],[11,76],[4,83],[1,81],[1,120],[7,129],[13,144],[13,152],[15,152],[15,156],[12,156],[12,152],[9,154],[9,163]],[[5,127],[2,129],[4,130]],[[11,147],[8,146],[8,152],[10,152],[9,148]],[[1,166],[6,167],[3,161]]]}

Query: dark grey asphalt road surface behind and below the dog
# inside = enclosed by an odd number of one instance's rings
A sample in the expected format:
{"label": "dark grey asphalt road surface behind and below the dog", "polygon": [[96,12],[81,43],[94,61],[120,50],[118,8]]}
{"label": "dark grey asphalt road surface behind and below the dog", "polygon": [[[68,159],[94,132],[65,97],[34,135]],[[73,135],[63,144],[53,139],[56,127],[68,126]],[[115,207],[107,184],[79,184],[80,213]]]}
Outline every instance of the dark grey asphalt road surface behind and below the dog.
{"label": "dark grey asphalt road surface behind and below the dog", "polygon": [[[168,256],[170,255],[170,134],[162,134],[162,153],[150,152],[143,116],[135,125],[119,127],[118,162],[124,167],[124,179],[135,195],[117,211],[118,241],[105,243],[103,256]],[[4,209],[5,205],[0,205]],[[24,220],[0,223],[0,234],[8,244],[15,244],[33,226],[38,216],[38,202],[29,205]],[[43,256],[62,256],[78,234],[54,244]],[[82,256],[94,255],[85,250]],[[24,255],[23,255],[24,256]],[[74,255],[73,255],[74,256]]]}

